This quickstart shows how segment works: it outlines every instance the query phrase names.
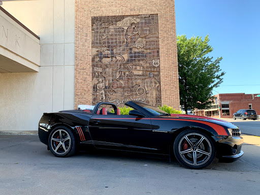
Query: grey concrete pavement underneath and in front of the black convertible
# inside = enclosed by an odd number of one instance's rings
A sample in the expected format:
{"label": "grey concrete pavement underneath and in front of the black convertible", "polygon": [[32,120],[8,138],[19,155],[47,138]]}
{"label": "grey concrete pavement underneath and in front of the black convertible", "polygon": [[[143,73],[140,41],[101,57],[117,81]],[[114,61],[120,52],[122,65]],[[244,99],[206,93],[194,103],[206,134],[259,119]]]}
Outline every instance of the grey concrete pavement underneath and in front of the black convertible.
{"label": "grey concrete pavement underneath and in front of the black convertible", "polygon": [[108,150],[54,157],[37,135],[0,135],[0,194],[258,194],[260,138],[231,164],[189,170],[174,159]]}

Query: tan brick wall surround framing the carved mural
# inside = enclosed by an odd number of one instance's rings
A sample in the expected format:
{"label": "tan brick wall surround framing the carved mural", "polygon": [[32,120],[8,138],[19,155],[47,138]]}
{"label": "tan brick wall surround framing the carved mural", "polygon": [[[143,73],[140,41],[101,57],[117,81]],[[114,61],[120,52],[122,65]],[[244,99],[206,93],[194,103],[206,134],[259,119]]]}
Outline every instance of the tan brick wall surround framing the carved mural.
{"label": "tan brick wall surround framing the carved mural", "polygon": [[86,1],[75,3],[75,108],[92,104],[91,17],[158,14],[161,103],[179,109],[174,1]]}

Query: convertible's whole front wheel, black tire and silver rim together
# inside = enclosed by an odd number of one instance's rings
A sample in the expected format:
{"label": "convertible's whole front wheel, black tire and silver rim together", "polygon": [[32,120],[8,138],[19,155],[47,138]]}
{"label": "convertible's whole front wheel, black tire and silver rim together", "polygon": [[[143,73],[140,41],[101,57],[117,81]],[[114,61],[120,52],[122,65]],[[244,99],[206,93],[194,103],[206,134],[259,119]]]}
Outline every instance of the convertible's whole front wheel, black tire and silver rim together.
{"label": "convertible's whole front wheel, black tire and silver rim together", "polygon": [[216,155],[215,146],[209,136],[192,129],[181,132],[176,137],[173,150],[179,163],[188,169],[206,168]]}

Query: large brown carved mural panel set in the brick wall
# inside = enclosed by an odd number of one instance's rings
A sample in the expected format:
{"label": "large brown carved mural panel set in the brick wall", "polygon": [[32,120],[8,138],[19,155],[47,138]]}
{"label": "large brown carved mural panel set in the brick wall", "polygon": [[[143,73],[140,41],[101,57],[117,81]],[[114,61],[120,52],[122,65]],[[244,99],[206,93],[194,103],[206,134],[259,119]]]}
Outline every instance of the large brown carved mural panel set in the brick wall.
{"label": "large brown carved mural panel set in the brick wall", "polygon": [[92,17],[92,102],[161,104],[158,15]]}

